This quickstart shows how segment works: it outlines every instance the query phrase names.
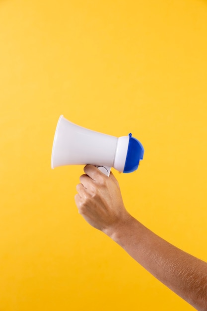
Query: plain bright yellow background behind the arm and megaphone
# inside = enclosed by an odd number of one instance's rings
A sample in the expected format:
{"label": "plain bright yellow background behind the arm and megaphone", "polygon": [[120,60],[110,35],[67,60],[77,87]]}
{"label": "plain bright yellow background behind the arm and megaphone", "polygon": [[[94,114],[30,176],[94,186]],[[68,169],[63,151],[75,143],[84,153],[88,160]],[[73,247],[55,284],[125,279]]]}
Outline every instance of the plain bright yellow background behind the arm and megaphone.
{"label": "plain bright yellow background behind the arm and megaphone", "polygon": [[0,311],[190,311],[74,204],[60,114],[144,146],[146,227],[207,260],[207,1],[0,0]]}

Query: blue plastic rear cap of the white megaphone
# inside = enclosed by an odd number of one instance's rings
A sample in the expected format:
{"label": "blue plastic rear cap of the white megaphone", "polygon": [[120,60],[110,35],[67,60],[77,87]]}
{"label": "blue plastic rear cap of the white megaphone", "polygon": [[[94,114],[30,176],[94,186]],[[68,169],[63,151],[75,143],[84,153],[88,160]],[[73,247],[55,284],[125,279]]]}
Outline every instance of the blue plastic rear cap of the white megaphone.
{"label": "blue plastic rear cap of the white megaphone", "polygon": [[129,145],[124,167],[124,173],[131,173],[138,169],[139,160],[143,159],[144,149],[141,143],[132,134],[129,134]]}

